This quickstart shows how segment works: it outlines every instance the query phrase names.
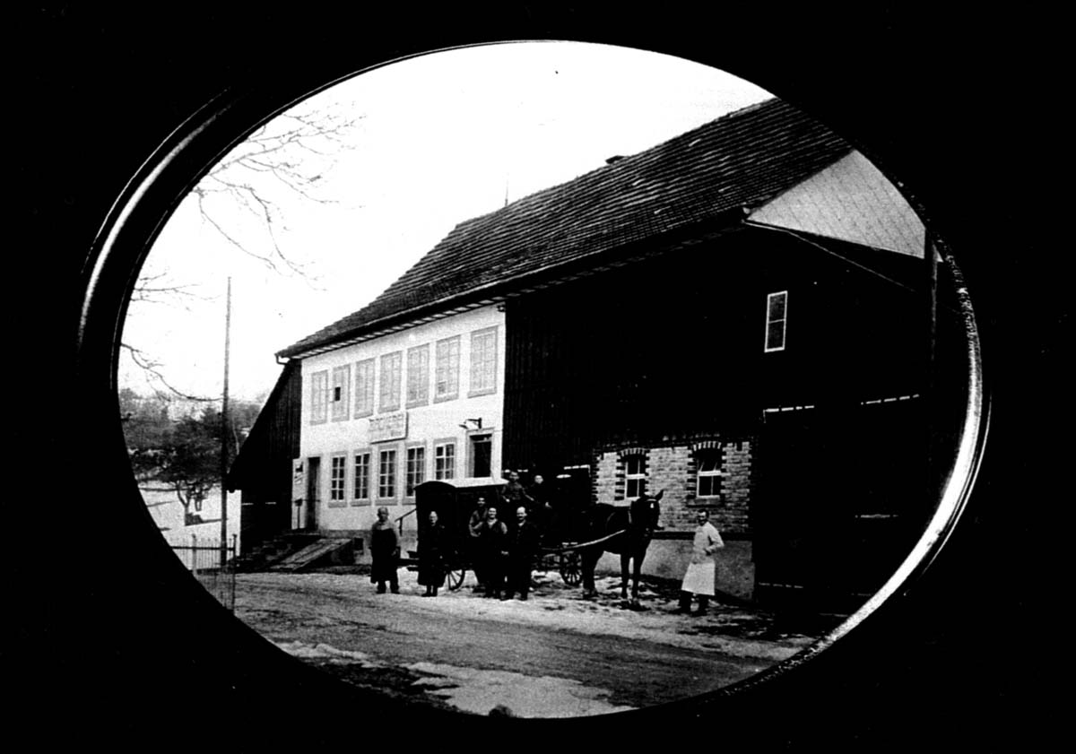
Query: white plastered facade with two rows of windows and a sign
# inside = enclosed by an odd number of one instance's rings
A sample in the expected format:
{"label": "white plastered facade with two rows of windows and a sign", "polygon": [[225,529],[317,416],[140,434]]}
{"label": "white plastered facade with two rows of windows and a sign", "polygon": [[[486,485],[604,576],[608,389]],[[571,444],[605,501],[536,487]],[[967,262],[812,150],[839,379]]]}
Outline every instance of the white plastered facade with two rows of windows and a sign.
{"label": "white plastered facade with two rows of windows and a sign", "polygon": [[[477,379],[481,367],[472,365],[472,352],[494,343],[492,374],[489,367],[484,375],[486,386]],[[458,339],[458,371],[456,389],[438,395],[438,343]],[[409,354],[425,346],[425,368],[416,365]],[[399,354],[398,408],[382,406],[382,382],[385,378],[383,356]],[[368,415],[356,395],[357,369],[370,365],[374,376],[372,408]],[[369,369],[369,367],[367,367]],[[388,370],[392,371],[391,369]],[[417,383],[409,371],[424,375]],[[339,376],[345,373],[343,389],[337,393]],[[322,376],[318,376],[322,375]],[[489,385],[493,378],[492,386]],[[335,379],[336,378],[336,379]],[[409,386],[422,382],[426,385],[425,399],[409,401]],[[442,385],[443,387],[443,382]],[[315,406],[316,394],[324,389],[324,409]],[[302,425],[300,457],[308,473],[316,467],[316,510],[312,511],[314,526],[322,531],[363,531],[376,520],[380,506],[388,508],[395,521],[414,508],[414,496],[408,495],[409,472],[422,470],[421,480],[440,476],[456,486],[494,484],[501,481],[501,441],[504,429],[505,394],[505,315],[496,305],[483,307],[454,314],[431,323],[381,336],[368,341],[309,356],[302,359]],[[345,397],[343,397],[345,394]],[[345,406],[340,407],[343,400]],[[356,408],[362,410],[356,411]],[[342,409],[342,410],[341,410]],[[358,414],[358,415],[357,415]],[[324,418],[322,417],[324,415]],[[476,442],[489,442],[489,473],[478,469],[476,474]],[[445,458],[445,445],[452,445],[451,460]],[[414,453],[421,450],[421,459]],[[383,455],[395,451],[395,457]],[[410,452],[410,453],[409,453]],[[362,471],[356,458],[368,454],[366,495],[356,479]],[[438,466],[437,454],[440,454]],[[409,458],[410,456],[410,458]],[[334,458],[341,459],[334,461]],[[317,459],[311,465],[311,459]],[[410,460],[410,468],[409,468]],[[342,473],[340,465],[342,464]],[[479,460],[482,465],[482,461]],[[360,464],[362,465],[362,464]],[[394,465],[392,492],[384,494],[385,466]],[[334,471],[336,466],[336,471]],[[451,469],[447,472],[445,469]],[[445,475],[450,473],[450,475]],[[342,478],[342,479],[341,479]],[[306,484],[309,485],[309,478]],[[342,494],[341,494],[342,485]],[[302,507],[311,504],[308,494]],[[296,521],[306,521],[307,511],[300,511]],[[413,531],[414,515],[402,518],[405,531]]]}

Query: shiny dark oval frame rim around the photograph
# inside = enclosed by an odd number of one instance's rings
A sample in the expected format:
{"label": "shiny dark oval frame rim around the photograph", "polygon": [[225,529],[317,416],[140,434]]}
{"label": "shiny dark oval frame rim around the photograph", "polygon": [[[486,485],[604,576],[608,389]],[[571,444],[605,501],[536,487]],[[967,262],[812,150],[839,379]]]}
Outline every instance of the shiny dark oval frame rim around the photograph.
{"label": "shiny dark oval frame rim around the photograph", "polygon": [[[544,40],[521,39],[518,41],[541,42]],[[392,59],[367,61],[357,68],[354,63],[342,67],[327,65],[326,68],[317,71],[296,72],[292,77],[284,80],[266,76],[260,81],[244,82],[243,85],[220,95],[184,122],[143,165],[116,200],[95,241],[93,254],[84,270],[85,285],[83,289],[84,300],[80,312],[76,390],[80,393],[81,404],[91,407],[88,411],[87,422],[102,428],[102,431],[108,428],[109,441],[114,443],[114,451],[103,451],[108,461],[104,479],[108,483],[114,484],[116,488],[127,493],[124,498],[124,513],[141,515],[147,535],[154,531],[153,522],[145,511],[137,487],[133,485],[127,459],[122,453],[124,446],[122,428],[116,412],[110,410],[114,408],[116,400],[115,375],[119,348],[118,335],[122,331],[127,302],[138,271],[145,261],[153,240],[183,196],[197,181],[228,150],[245,139],[266,120],[279,115],[298,101],[345,79],[362,75],[365,72],[391,66],[411,57],[435,54],[451,48],[454,47],[414,51]],[[669,54],[677,53],[670,52]],[[714,61],[680,56],[702,65],[718,67]],[[785,97],[781,94],[780,87],[771,88],[769,82],[756,82],[739,71],[727,68],[722,70],[728,70],[735,75],[758,83],[774,91],[776,96],[788,99],[819,119],[830,123],[824,113],[812,110],[809,103]],[[268,85],[267,81],[270,81],[271,85]],[[841,136],[846,136],[841,129],[835,127],[835,130]],[[848,137],[846,136],[846,138]],[[869,144],[861,144],[854,138],[848,138],[848,140],[855,144],[856,148],[875,162],[901,189],[902,195],[923,219],[928,232],[931,232],[929,212],[925,212],[925,208],[921,207],[916,198],[909,195],[901,182],[893,180],[890,166],[886,163],[884,159],[872,151]],[[876,613],[891,597],[909,589],[928,570],[952,534],[968,499],[981,458],[988,424],[987,398],[982,382],[979,336],[972,302],[961,281],[959,266],[952,260],[944,238],[935,240],[939,252],[949,262],[953,272],[957,298],[961,308],[960,316],[964,326],[969,371],[967,375],[967,403],[964,407],[964,421],[960,428],[957,457],[951,471],[944,479],[937,507],[925,531],[919,537],[911,552],[908,553],[881,589],[836,629],[792,658],[756,675],[702,697],[675,702],[675,706],[681,708],[684,714],[700,713],[707,706],[731,697],[749,696],[752,689],[768,687],[790,671],[813,660],[823,650],[831,648],[864,620]],[[164,541],[159,538],[147,536],[146,540],[142,543],[144,547],[156,546],[157,550],[164,547]],[[252,651],[263,654],[266,661],[298,664],[298,660],[294,660],[270,646],[261,635],[220,608],[215,600],[189,577],[179,560],[171,556],[170,552],[162,552],[162,554],[168,556],[168,558],[161,559],[161,568],[167,571],[164,573],[166,584],[175,587],[178,598],[190,600],[193,606],[203,609],[204,620],[217,621],[221,624],[221,632],[227,636],[227,640],[257,639],[256,642],[249,643],[257,646]],[[164,563],[169,558],[172,563],[171,566]],[[229,628],[226,629],[226,626]],[[336,682],[332,683],[336,685]],[[391,703],[390,707],[392,707]],[[629,713],[618,713],[617,717],[624,714],[640,716],[655,711],[656,708],[651,708]]]}

